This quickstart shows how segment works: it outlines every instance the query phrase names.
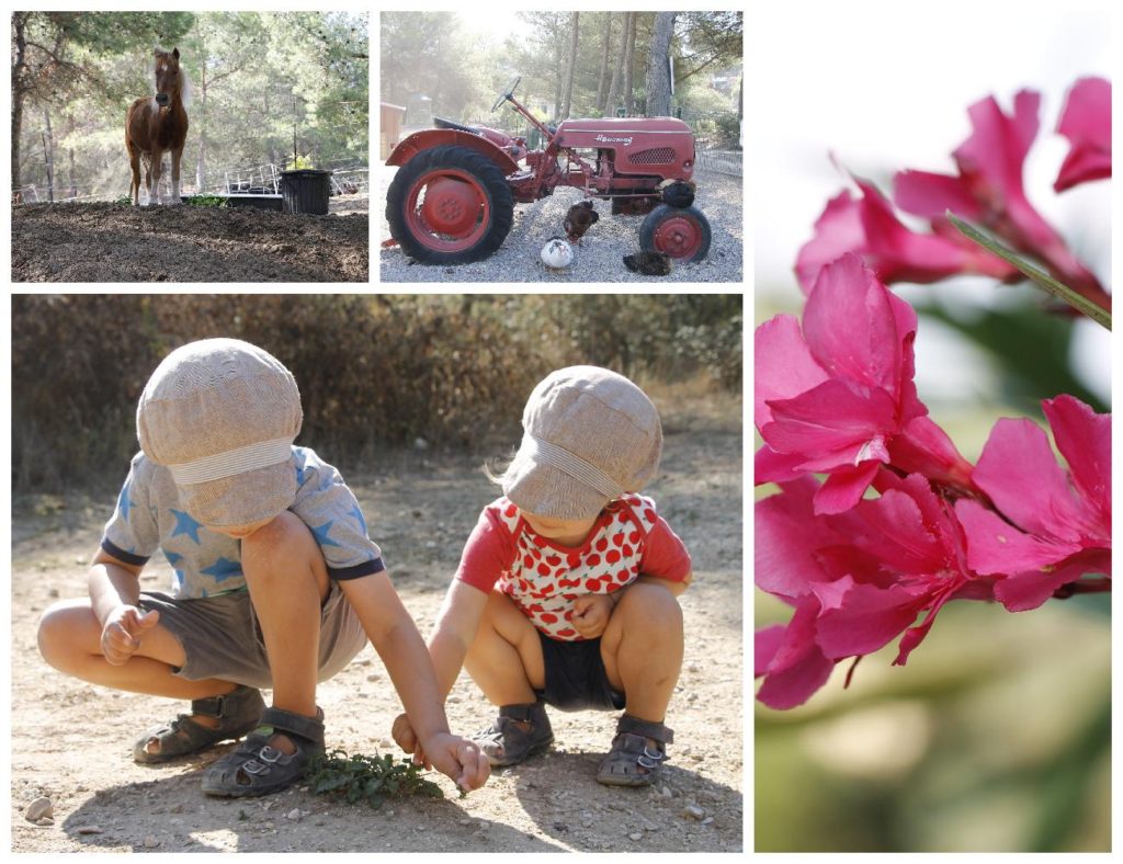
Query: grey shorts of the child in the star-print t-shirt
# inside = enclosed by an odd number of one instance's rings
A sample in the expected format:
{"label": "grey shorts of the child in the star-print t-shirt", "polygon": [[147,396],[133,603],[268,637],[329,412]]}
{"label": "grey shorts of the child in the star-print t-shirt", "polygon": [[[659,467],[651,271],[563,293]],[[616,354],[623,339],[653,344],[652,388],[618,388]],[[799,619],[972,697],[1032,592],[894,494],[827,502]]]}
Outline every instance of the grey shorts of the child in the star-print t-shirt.
{"label": "grey shorts of the child in the star-print t-shirt", "polygon": [[[270,659],[249,591],[182,600],[161,591],[143,591],[140,608],[158,609],[159,623],[174,635],[186,662],[175,674],[189,681],[218,678],[256,688],[272,688]],[[320,609],[318,680],[338,674],[366,644],[358,615],[339,585],[331,582]]]}

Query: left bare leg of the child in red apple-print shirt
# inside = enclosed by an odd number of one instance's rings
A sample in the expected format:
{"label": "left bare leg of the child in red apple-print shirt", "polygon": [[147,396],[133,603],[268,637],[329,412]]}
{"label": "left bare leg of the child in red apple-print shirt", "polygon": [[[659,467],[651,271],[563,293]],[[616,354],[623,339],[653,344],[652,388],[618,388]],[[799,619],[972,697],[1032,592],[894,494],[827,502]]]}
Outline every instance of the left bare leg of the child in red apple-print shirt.
{"label": "left bare leg of the child in red apple-print shirt", "polygon": [[535,701],[546,686],[546,664],[538,631],[511,599],[492,591],[464,668],[493,705]]}

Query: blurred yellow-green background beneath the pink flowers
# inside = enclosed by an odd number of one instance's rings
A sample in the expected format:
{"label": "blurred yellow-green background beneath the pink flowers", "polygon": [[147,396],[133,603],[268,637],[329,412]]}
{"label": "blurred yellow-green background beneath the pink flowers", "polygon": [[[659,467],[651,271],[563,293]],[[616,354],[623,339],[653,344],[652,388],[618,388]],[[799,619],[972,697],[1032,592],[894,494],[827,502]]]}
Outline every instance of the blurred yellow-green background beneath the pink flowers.
{"label": "blurred yellow-green background beneath the pink flowers", "polygon": [[800,708],[757,705],[756,851],[1108,851],[1111,600],[1080,599],[950,604],[906,668],[893,645],[849,689],[844,662]]}

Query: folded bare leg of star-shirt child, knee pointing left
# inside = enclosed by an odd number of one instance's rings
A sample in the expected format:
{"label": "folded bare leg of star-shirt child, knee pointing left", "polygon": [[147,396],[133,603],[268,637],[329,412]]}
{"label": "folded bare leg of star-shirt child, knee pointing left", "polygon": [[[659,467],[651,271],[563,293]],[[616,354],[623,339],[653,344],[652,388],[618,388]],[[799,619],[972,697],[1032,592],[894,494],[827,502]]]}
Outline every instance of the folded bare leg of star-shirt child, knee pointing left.
{"label": "folded bare leg of star-shirt child, knee pointing left", "polygon": [[[206,699],[234,690],[237,684],[216,678],[188,681],[173,673],[186,662],[183,646],[171,631],[157,624],[145,633],[129,660],[112,665],[101,653],[101,624],[89,599],[56,603],[39,622],[39,653],[60,672],[90,683],[171,699]],[[214,727],[218,720],[195,715],[192,719]]]}

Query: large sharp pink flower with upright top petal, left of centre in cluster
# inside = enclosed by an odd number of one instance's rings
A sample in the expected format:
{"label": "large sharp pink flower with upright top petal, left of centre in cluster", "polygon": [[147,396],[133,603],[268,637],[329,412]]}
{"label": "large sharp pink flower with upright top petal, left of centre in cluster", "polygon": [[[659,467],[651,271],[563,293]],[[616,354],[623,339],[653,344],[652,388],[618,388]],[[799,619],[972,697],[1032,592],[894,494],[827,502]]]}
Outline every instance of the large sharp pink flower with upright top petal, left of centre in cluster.
{"label": "large sharp pink flower with upright top petal, left of centre in cluster", "polygon": [[970,489],[970,463],[913,384],[916,313],[856,255],[822,268],[801,323],[777,315],[755,337],[756,481],[825,474],[816,513],[853,507],[892,463]]}

